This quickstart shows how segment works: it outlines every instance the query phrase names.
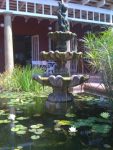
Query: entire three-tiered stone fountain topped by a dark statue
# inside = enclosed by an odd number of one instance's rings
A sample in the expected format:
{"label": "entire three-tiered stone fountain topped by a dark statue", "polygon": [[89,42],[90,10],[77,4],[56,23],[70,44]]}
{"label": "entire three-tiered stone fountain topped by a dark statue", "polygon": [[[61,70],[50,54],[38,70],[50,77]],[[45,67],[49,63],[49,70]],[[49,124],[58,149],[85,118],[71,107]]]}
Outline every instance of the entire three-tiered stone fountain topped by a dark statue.
{"label": "entire three-tiered stone fountain topped by a dark statue", "polygon": [[69,60],[75,59],[81,55],[75,51],[67,51],[67,41],[76,38],[76,34],[69,31],[69,22],[66,18],[67,7],[64,3],[59,3],[58,7],[58,31],[49,32],[49,37],[55,42],[55,51],[41,52],[43,60],[56,62],[53,75],[45,74],[44,76],[33,75],[37,82],[51,86],[53,93],[49,94],[46,101],[47,112],[52,114],[65,113],[67,108],[72,105],[73,95],[68,92],[70,87],[82,84],[87,77],[84,75],[72,75],[66,68]]}

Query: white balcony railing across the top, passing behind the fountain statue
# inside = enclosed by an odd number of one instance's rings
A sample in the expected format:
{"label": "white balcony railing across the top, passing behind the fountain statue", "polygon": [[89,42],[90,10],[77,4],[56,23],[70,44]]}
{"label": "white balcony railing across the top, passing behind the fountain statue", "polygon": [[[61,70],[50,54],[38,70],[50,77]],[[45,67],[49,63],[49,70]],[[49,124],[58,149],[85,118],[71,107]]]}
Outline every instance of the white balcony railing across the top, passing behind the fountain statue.
{"label": "white balcony railing across the top, passing behind the fountain statue", "polygon": [[[113,25],[113,11],[69,3],[70,21]],[[12,13],[40,18],[57,19],[58,2],[55,0],[0,0],[0,13]]]}

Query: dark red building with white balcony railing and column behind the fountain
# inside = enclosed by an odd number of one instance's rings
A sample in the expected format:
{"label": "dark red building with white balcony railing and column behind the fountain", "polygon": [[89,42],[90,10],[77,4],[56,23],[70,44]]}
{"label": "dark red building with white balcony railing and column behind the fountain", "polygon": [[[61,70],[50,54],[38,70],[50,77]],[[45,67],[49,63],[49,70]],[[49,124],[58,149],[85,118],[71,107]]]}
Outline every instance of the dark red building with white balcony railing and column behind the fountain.
{"label": "dark red building with white balcony railing and column behind the fountain", "polygon": [[[0,0],[0,72],[14,64],[40,60],[42,50],[54,49],[48,32],[57,27],[60,0]],[[88,31],[101,31],[113,25],[113,1],[64,0],[68,7],[70,30],[81,39]],[[78,50],[84,51],[78,40]]]}

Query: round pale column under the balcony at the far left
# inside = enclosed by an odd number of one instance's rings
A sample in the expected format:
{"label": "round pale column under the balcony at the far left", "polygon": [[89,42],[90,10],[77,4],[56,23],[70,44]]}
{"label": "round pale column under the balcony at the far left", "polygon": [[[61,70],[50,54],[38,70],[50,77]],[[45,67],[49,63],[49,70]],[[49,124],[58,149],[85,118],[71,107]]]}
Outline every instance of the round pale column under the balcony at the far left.
{"label": "round pale column under the balcony at the far left", "polygon": [[5,48],[5,71],[12,71],[14,68],[13,38],[11,15],[4,15],[4,48]]}

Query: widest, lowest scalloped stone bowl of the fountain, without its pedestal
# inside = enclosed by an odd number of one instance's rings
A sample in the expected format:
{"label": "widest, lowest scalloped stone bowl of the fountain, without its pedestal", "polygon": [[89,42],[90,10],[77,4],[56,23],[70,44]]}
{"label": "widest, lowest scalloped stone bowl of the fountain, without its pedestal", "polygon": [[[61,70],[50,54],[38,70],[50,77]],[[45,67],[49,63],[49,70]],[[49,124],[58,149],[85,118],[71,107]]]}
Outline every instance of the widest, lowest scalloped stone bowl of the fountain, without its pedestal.
{"label": "widest, lowest scalloped stone bowl of the fountain, without its pedestal", "polygon": [[88,80],[88,76],[73,75],[71,77],[62,77],[61,75],[50,75],[49,77],[42,77],[40,75],[33,75],[33,79],[42,85],[47,85],[56,88],[69,88],[80,85]]}

